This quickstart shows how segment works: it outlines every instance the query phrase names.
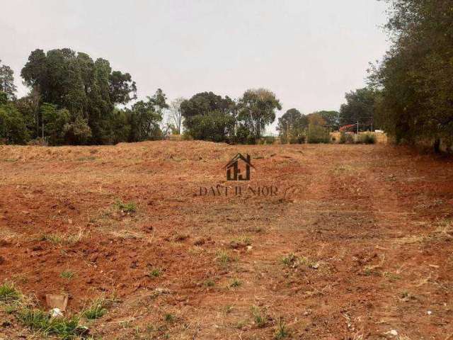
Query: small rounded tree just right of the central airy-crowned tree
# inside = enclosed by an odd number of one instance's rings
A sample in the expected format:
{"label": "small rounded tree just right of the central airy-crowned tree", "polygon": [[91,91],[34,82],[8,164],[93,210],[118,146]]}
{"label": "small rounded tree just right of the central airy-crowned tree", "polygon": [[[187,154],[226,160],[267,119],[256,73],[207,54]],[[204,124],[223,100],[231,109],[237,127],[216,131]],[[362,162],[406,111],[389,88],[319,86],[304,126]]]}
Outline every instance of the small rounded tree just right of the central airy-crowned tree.
{"label": "small rounded tree just right of the central airy-crowned tree", "polygon": [[296,108],[290,108],[278,118],[277,131],[282,143],[302,143],[305,140],[308,118]]}

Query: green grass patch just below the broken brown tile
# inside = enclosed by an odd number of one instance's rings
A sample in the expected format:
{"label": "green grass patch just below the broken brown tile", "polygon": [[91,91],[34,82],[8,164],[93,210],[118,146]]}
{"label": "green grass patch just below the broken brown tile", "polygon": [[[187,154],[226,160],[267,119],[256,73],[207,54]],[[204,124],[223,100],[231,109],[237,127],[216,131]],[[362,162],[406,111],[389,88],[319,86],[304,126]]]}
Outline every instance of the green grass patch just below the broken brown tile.
{"label": "green grass patch just below the broken brown tile", "polygon": [[23,325],[33,331],[40,331],[45,336],[56,335],[60,339],[69,340],[88,333],[88,329],[79,324],[79,317],[51,319],[49,313],[27,307],[20,310],[17,317]]}

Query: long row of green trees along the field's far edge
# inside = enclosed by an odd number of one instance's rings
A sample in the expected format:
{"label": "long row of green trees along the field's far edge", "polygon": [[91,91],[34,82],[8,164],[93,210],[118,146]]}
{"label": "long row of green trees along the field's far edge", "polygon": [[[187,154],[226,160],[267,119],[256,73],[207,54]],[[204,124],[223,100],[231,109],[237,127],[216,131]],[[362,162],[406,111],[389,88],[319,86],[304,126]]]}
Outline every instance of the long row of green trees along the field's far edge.
{"label": "long row of green trees along the field's far edge", "polygon": [[[0,142],[4,144],[110,145],[159,140],[168,133],[255,144],[263,142],[265,128],[282,109],[268,89],[248,89],[236,100],[209,91],[169,103],[164,91],[157,89],[137,101],[137,85],[129,73],[113,70],[108,60],[93,60],[69,48],[34,50],[21,78],[30,91],[16,98],[11,67],[0,67]],[[356,120],[360,130],[372,127],[374,94],[371,89],[347,94],[340,112],[303,115],[291,108],[278,119],[280,140],[329,142],[330,131]]]}

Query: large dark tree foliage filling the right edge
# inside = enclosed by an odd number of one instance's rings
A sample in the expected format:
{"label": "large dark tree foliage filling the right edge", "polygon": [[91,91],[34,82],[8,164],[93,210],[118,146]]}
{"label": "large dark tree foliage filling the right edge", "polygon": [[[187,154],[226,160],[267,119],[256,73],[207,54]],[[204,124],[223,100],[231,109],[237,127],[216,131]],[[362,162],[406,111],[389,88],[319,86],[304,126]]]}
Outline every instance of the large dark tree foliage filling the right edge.
{"label": "large dark tree foliage filling the right edge", "polygon": [[453,135],[451,1],[386,1],[393,45],[370,76],[379,121],[397,142],[431,139],[438,147]]}

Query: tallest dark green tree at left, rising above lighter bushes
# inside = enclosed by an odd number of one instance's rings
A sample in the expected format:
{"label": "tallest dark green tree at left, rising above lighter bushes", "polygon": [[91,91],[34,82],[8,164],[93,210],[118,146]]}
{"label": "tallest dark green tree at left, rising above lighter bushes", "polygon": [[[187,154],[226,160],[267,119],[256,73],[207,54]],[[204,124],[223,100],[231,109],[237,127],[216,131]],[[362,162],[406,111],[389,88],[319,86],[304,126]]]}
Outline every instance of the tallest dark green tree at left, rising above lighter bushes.
{"label": "tallest dark green tree at left, rising above lighter bushes", "polygon": [[[47,53],[39,49],[31,52],[21,76],[25,84],[39,94],[40,103],[51,103],[69,111],[71,124],[76,128],[71,131],[78,132],[71,140],[77,143],[81,140],[113,143],[115,105],[124,105],[137,98],[137,86],[130,74],[112,71],[108,60],[98,58],[93,62],[86,53],[69,48]],[[42,127],[42,111],[35,112],[35,125]]]}

